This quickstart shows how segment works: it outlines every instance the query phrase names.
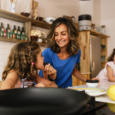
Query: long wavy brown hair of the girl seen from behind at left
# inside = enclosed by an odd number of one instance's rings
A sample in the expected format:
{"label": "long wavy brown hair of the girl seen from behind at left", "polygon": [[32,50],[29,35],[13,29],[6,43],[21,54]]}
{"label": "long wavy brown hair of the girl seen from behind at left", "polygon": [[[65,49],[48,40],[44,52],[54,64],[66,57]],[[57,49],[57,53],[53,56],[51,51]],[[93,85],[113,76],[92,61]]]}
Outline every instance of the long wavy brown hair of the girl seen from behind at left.
{"label": "long wavy brown hair of the girl seen from behind at left", "polygon": [[21,42],[16,44],[10,51],[7,65],[2,73],[2,79],[5,80],[8,72],[14,70],[20,79],[34,80],[37,69],[32,65],[36,62],[37,54],[40,52],[40,46],[37,42]]}

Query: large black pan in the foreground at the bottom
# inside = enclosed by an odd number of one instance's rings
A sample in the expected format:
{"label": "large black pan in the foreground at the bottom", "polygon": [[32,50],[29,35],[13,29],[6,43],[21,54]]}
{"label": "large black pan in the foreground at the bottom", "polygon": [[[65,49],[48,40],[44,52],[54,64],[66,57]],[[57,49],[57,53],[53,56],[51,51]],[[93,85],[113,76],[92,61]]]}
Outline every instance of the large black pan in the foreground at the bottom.
{"label": "large black pan in the foreground at the bottom", "polygon": [[84,92],[64,88],[1,90],[0,115],[77,115],[89,100]]}

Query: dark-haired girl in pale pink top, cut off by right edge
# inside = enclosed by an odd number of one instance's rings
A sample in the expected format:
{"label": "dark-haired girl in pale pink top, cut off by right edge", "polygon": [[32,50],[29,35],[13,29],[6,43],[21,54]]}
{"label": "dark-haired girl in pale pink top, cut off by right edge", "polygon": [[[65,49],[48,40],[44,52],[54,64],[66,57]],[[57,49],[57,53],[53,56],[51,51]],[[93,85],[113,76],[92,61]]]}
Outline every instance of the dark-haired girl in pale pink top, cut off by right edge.
{"label": "dark-haired girl in pale pink top, cut off by right edge", "polygon": [[99,80],[100,87],[104,89],[115,84],[115,48],[108,57],[108,62],[106,63],[105,68],[102,69],[95,78],[93,78],[93,80],[95,79]]}

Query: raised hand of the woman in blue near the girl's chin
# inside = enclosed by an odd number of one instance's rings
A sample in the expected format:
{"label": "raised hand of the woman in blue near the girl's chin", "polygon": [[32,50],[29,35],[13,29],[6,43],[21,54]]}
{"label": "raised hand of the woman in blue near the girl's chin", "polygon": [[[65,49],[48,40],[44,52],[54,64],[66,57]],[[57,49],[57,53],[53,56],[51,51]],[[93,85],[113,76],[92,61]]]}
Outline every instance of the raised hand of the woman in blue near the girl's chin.
{"label": "raised hand of the woman in blue near the girl's chin", "polygon": [[53,68],[50,64],[45,65],[44,73],[49,75],[52,80],[56,79],[56,69]]}

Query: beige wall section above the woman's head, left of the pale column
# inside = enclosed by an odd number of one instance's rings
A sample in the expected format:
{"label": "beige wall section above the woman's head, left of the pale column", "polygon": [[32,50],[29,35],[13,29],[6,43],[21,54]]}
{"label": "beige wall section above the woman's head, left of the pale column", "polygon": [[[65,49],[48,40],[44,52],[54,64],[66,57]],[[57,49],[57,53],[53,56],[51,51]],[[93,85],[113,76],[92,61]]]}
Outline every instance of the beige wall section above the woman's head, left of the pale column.
{"label": "beige wall section above the woman's head, left of the pale column", "polygon": [[78,16],[79,0],[36,0],[39,2],[39,15],[59,17]]}

